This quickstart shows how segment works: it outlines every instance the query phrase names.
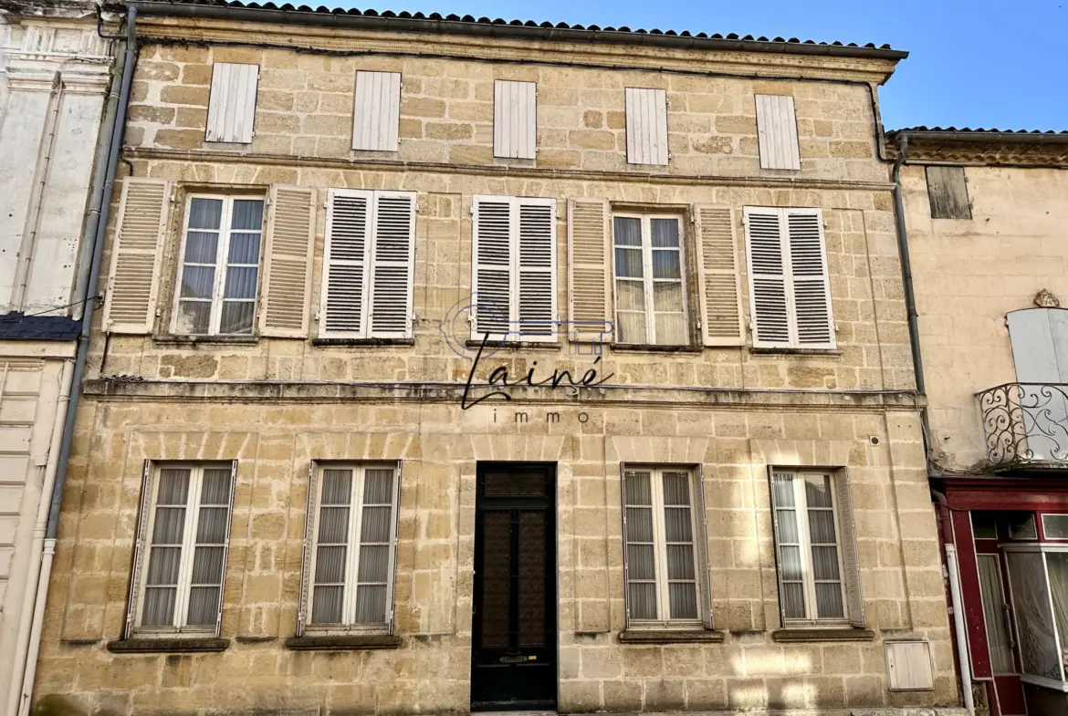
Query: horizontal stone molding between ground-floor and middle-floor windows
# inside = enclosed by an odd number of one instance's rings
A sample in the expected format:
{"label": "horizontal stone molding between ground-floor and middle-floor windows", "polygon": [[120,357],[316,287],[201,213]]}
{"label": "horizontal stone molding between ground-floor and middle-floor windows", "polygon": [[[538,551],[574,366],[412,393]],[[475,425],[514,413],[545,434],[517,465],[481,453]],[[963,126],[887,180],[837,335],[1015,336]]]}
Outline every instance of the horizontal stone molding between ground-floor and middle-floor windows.
{"label": "horizontal stone molding between ground-floor and middle-floor windows", "polygon": [[[168,381],[140,377],[88,380],[84,394],[99,399],[236,402],[415,402],[459,403],[462,383],[376,382],[319,383],[311,381]],[[744,388],[662,388],[646,385],[576,386],[562,398],[564,384],[550,387],[512,386],[512,400],[494,398],[480,404],[738,407],[747,409],[849,409],[854,411],[918,410],[926,404],[914,391],[759,391]],[[469,401],[500,385],[473,384]]]}

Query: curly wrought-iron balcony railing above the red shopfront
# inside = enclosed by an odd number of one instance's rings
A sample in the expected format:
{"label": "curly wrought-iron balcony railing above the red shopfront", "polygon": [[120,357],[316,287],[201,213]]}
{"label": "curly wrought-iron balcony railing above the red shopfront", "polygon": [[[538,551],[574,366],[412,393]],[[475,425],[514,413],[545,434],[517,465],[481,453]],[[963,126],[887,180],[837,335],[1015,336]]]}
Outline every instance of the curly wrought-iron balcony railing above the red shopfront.
{"label": "curly wrought-iron balcony railing above the red shopfront", "polygon": [[1006,383],[976,397],[992,467],[1068,467],[1068,384]]}

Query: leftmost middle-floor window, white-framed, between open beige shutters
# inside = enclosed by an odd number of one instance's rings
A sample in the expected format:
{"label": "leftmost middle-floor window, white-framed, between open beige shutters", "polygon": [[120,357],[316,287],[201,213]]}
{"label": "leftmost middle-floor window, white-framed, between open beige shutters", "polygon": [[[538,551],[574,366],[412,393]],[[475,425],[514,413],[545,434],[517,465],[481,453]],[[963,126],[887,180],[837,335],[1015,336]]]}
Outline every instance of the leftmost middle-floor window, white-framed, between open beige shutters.
{"label": "leftmost middle-floor window, white-framed, between open beige shutters", "polygon": [[263,198],[189,196],[175,291],[175,333],[252,333],[263,220]]}

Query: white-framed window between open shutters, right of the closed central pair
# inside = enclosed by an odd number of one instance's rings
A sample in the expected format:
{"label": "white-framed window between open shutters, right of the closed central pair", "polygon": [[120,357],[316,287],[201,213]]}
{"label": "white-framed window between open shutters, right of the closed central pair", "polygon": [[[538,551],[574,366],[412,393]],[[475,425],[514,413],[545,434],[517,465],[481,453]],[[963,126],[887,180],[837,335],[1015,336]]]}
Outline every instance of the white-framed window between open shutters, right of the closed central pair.
{"label": "white-framed window between open shutters, right of the closed central pair", "polygon": [[613,217],[616,343],[690,343],[681,226],[672,216]]}

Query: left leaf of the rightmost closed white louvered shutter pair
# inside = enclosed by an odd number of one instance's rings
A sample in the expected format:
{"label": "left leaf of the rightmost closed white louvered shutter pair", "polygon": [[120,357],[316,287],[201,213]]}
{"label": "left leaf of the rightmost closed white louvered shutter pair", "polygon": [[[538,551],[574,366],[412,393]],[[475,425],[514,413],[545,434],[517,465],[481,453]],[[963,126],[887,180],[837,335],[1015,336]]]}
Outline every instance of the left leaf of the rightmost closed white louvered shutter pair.
{"label": "left leaf of the rightmost closed white louvered shutter pair", "polygon": [[744,217],[753,346],[788,348],[792,332],[780,211],[745,207]]}

